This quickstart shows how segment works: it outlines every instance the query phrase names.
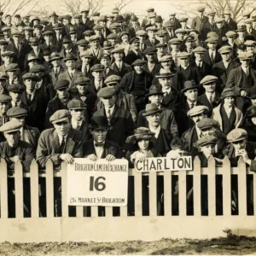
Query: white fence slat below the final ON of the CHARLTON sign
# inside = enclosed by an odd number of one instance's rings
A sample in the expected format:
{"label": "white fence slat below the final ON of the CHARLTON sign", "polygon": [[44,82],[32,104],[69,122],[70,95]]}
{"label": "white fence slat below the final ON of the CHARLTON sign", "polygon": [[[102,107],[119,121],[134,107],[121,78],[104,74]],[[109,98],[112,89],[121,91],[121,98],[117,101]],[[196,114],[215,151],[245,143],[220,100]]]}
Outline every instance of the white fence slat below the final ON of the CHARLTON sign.
{"label": "white fence slat below the final ON of the CHARLTON sign", "polygon": [[178,172],[178,215],[186,216],[187,215],[187,181],[186,181],[186,171]]}

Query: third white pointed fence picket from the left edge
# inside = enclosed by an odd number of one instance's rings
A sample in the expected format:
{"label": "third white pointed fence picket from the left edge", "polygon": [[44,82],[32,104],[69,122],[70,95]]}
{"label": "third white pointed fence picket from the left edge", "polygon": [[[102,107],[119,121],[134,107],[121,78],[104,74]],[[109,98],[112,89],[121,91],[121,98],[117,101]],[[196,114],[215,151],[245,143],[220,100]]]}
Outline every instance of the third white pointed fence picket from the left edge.
{"label": "third white pointed fence picket from the left edge", "polygon": [[39,184],[38,184],[38,164],[36,160],[32,160],[30,166],[30,188],[31,188],[31,217],[39,216]]}

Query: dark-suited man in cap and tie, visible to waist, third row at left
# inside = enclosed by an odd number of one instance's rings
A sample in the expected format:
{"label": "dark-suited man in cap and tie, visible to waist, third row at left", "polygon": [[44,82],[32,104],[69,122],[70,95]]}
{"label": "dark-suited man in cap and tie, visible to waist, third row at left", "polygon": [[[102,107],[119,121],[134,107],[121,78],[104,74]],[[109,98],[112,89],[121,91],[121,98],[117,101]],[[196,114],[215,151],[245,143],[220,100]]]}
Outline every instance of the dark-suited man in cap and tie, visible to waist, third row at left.
{"label": "dark-suited man in cap and tie, visible to waist, third row at left", "polygon": [[28,112],[27,125],[38,127],[39,131],[44,130],[45,110],[47,108],[47,99],[44,93],[36,89],[38,76],[34,73],[23,75],[23,82],[26,90],[21,95],[21,102],[26,105]]}

